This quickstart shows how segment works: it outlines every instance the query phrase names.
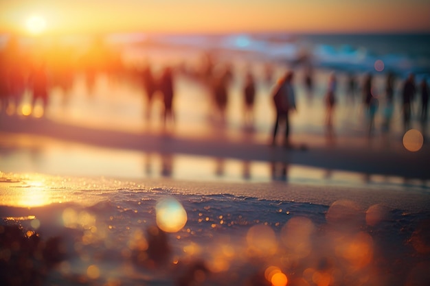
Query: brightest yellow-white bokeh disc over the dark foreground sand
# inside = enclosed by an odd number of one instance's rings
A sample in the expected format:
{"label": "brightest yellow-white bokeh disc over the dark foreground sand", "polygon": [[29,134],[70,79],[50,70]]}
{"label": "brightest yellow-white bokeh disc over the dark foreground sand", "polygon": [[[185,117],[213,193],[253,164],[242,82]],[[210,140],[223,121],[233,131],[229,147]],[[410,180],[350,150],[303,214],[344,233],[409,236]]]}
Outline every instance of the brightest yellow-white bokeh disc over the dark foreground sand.
{"label": "brightest yellow-white bokeh disc over the dark foreground sand", "polygon": [[155,211],[157,226],[166,233],[177,233],[188,220],[185,208],[174,198],[160,200],[155,206]]}

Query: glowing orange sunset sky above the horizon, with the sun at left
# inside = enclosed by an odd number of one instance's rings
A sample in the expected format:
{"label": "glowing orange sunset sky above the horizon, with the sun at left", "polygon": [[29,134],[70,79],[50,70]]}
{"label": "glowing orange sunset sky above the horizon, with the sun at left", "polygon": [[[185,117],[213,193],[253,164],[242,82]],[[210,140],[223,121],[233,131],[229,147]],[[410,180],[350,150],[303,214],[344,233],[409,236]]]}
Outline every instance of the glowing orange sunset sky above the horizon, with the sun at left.
{"label": "glowing orange sunset sky above the horizon, with the sun at left", "polygon": [[0,33],[430,32],[429,15],[428,0],[0,0]]}

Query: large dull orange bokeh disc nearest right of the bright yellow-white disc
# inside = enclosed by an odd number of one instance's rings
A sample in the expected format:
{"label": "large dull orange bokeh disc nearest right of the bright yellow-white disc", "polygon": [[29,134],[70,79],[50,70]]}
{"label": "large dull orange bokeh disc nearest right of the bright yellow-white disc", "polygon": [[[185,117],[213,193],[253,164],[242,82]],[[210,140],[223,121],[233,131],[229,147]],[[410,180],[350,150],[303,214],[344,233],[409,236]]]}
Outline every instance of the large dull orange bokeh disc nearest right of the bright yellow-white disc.
{"label": "large dull orange bokeh disc nearest right of the bright yellow-white disc", "polygon": [[264,224],[249,228],[247,242],[252,254],[273,255],[278,250],[275,232],[270,226]]}

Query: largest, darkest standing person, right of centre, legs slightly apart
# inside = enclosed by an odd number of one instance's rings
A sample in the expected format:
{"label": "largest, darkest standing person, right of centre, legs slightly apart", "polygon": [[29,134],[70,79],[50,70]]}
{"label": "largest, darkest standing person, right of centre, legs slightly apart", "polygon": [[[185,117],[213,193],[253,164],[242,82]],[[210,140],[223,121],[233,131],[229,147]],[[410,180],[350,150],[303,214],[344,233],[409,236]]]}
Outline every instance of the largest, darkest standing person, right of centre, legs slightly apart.
{"label": "largest, darkest standing person, right of centre, legs slightly apart", "polygon": [[275,88],[273,101],[276,109],[275,125],[273,126],[273,140],[272,145],[276,145],[276,134],[281,121],[285,123],[284,133],[284,147],[291,147],[289,141],[290,134],[290,121],[289,113],[291,110],[296,110],[295,106],[295,93],[293,88],[293,72],[288,71],[284,78],[282,78]]}

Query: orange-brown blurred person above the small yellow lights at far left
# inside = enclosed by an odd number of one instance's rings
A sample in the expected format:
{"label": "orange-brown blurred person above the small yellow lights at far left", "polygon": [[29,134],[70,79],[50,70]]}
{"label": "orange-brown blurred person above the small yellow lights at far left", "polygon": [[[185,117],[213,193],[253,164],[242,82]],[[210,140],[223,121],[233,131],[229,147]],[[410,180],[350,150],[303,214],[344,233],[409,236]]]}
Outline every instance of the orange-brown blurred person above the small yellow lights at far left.
{"label": "orange-brown blurred person above the small yellow lights at far left", "polygon": [[46,112],[46,107],[48,104],[48,78],[47,71],[45,67],[45,62],[43,60],[37,62],[30,74],[30,82],[32,87],[32,110],[36,106],[38,101],[42,102],[43,112]]}

